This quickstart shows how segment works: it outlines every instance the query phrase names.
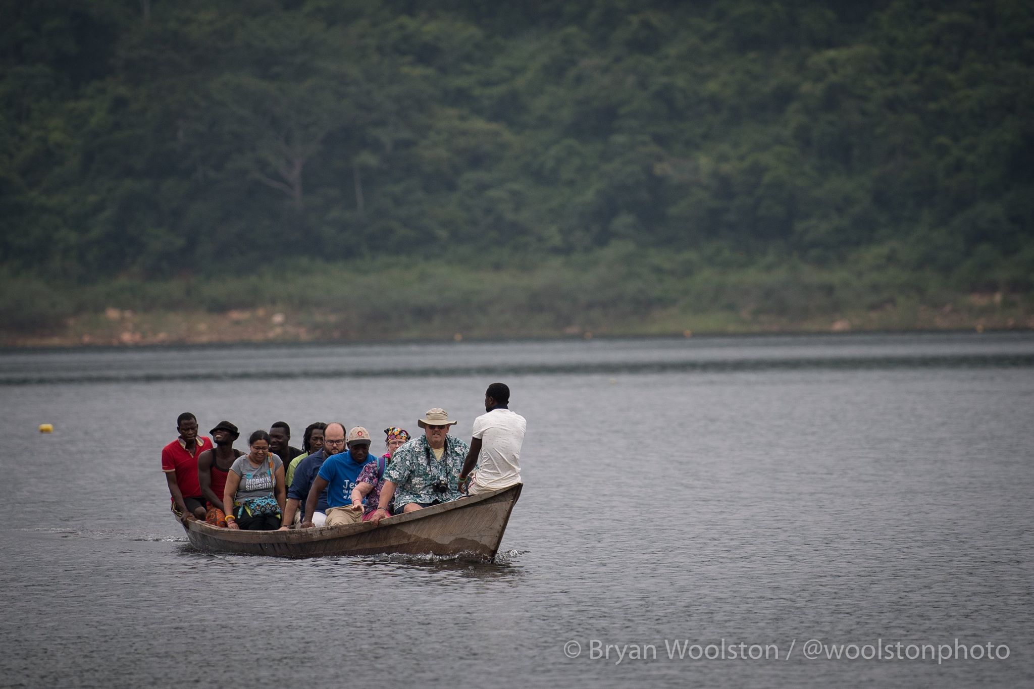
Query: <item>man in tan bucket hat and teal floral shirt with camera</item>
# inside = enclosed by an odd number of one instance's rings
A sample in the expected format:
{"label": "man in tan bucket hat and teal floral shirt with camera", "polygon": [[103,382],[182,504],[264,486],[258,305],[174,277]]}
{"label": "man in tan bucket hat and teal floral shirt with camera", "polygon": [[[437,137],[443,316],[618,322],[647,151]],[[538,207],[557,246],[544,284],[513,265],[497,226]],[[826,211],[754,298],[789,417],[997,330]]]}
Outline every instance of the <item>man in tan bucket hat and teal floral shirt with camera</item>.
{"label": "man in tan bucket hat and teal floral shirt with camera", "polygon": [[469,448],[459,438],[449,435],[449,427],[456,421],[450,420],[445,409],[434,407],[417,419],[417,425],[424,429],[424,435],[414,438],[391,456],[381,501],[370,518],[374,524],[389,516],[387,508],[392,497],[396,513],[463,497],[459,471]]}

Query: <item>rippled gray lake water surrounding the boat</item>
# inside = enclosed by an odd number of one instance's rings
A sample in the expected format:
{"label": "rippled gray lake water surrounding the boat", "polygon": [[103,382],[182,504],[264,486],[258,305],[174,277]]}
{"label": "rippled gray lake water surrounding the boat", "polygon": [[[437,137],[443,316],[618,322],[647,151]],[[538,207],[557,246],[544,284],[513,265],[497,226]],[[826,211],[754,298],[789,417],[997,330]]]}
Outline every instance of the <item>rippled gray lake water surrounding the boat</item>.
{"label": "rippled gray lake water surrounding the boat", "polygon": [[[496,562],[208,555],[169,514],[181,411],[468,440],[497,379]],[[1034,335],[7,351],[0,400],[0,686],[1034,683]]]}

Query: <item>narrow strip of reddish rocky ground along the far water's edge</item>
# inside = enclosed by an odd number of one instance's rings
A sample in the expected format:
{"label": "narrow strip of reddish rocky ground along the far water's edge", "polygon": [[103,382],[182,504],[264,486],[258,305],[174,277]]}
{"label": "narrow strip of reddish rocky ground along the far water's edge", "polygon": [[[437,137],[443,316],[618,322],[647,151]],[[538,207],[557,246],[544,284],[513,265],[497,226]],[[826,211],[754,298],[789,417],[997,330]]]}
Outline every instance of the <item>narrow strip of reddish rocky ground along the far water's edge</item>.
{"label": "narrow strip of reddish rocky ground along the far water's edge", "polygon": [[439,323],[415,322],[404,330],[376,323],[349,324],[344,316],[288,311],[273,307],[209,312],[139,313],[115,307],[100,314],[68,318],[47,333],[5,330],[0,345],[26,347],[143,347],[233,343],[362,342],[392,340],[461,341],[500,338],[584,338],[621,336],[747,335],[848,332],[1030,331],[1034,314],[989,309],[994,302],[971,299],[966,305],[919,306],[907,313],[892,308],[865,313],[831,314],[809,319],[752,314],[678,314],[657,312],[639,320],[571,323],[556,327],[481,325],[457,331]]}

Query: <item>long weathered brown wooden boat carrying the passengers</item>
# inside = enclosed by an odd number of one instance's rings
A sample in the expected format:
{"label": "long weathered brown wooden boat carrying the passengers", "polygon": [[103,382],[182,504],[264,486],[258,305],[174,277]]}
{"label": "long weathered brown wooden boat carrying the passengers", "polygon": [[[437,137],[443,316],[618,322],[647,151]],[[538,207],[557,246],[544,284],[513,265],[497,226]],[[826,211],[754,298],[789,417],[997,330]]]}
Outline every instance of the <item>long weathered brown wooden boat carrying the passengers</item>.
{"label": "long weathered brown wooden boat carrying the passengers", "polygon": [[499,550],[521,483],[370,522],[291,531],[241,531],[196,520],[184,525],[194,547],[210,553],[315,558],[404,553],[491,559]]}

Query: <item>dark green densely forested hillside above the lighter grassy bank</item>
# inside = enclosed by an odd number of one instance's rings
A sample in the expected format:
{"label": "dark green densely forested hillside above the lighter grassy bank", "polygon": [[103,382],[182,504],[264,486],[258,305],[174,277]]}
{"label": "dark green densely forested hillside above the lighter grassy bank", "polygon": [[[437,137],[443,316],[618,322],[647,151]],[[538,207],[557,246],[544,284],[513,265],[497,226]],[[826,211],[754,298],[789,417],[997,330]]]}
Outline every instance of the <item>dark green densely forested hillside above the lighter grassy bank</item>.
{"label": "dark green densely forested hillside above the lighter grassy bank", "polygon": [[53,291],[9,318],[116,277],[608,246],[1034,288],[1018,0],[34,0],[0,26],[0,264]]}

